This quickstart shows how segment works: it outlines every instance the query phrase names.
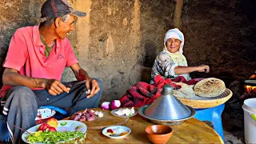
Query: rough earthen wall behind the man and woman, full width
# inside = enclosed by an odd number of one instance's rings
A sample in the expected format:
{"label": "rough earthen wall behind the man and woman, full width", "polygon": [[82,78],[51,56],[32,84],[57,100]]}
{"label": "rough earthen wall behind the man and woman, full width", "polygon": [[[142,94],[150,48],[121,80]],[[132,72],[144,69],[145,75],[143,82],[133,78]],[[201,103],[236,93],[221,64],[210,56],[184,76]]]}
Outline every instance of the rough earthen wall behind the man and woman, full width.
{"label": "rough earthen wall behind the man and woman, full width", "polygon": [[[21,26],[36,24],[44,0],[0,2],[0,64],[10,37]],[[80,65],[91,77],[104,82],[102,101],[120,98],[138,81],[149,82],[150,67],[163,48],[163,38],[172,28],[175,1],[72,0],[86,18],[78,18],[69,35]],[[182,28],[184,54],[190,66],[210,65],[210,74],[227,84],[248,78],[256,68],[255,22],[248,16],[250,0],[185,0]],[[248,5],[249,4],[249,5]],[[2,71],[2,69],[1,69]],[[74,80],[67,68],[62,81]]]}

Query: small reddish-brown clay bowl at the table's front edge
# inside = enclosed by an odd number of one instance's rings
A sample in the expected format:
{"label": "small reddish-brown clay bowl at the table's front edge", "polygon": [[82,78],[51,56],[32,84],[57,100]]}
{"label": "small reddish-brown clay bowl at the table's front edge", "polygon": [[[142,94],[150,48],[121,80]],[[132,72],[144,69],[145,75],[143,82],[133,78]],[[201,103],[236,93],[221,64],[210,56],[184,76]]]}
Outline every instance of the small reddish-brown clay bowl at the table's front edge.
{"label": "small reddish-brown clay bowl at the table's front edge", "polygon": [[164,144],[166,143],[171,135],[173,134],[172,128],[166,125],[153,125],[147,126],[145,128],[145,133],[147,137],[150,139],[150,142],[155,144]]}

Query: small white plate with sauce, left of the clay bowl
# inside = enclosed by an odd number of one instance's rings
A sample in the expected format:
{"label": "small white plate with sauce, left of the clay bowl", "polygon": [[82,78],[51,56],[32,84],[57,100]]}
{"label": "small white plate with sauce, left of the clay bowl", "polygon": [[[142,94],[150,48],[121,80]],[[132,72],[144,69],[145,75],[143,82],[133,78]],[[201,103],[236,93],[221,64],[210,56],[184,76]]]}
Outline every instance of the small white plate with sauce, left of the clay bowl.
{"label": "small white plate with sauce, left of the clay bowl", "polygon": [[[108,133],[107,130],[113,130],[114,134]],[[127,132],[127,134],[119,135],[121,133]],[[127,126],[108,126],[102,130],[102,134],[109,138],[125,138],[126,135],[130,134],[131,130]]]}

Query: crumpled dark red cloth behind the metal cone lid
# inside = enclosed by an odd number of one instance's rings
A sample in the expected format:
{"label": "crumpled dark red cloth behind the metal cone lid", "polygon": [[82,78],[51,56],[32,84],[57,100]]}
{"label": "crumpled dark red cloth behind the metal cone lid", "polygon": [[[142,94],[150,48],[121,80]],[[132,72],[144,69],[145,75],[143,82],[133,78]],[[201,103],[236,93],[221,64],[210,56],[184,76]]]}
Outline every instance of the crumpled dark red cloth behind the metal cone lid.
{"label": "crumpled dark red cloth behind the metal cone lid", "polygon": [[202,78],[194,78],[190,81],[186,81],[183,76],[179,76],[175,79],[163,78],[161,75],[157,75],[154,78],[154,84],[150,85],[146,82],[138,82],[130,89],[126,90],[126,94],[120,98],[122,107],[140,107],[149,105],[154,102],[154,99],[158,98],[162,94],[162,88],[165,85],[170,85],[174,89],[180,89],[180,85],[176,85],[174,82],[184,82],[188,85],[194,85],[202,80]]}

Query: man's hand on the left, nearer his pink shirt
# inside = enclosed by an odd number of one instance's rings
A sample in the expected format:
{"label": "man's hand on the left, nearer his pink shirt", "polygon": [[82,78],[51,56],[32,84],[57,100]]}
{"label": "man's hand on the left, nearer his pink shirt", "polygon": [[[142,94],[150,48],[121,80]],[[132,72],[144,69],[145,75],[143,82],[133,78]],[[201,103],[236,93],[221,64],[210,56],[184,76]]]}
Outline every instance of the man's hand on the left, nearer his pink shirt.
{"label": "man's hand on the left, nearer his pink shirt", "polygon": [[69,93],[70,91],[69,87],[64,86],[62,82],[59,82],[56,79],[46,79],[44,82],[42,82],[42,87],[45,88],[49,94],[54,96],[62,94],[64,91],[66,93]]}

